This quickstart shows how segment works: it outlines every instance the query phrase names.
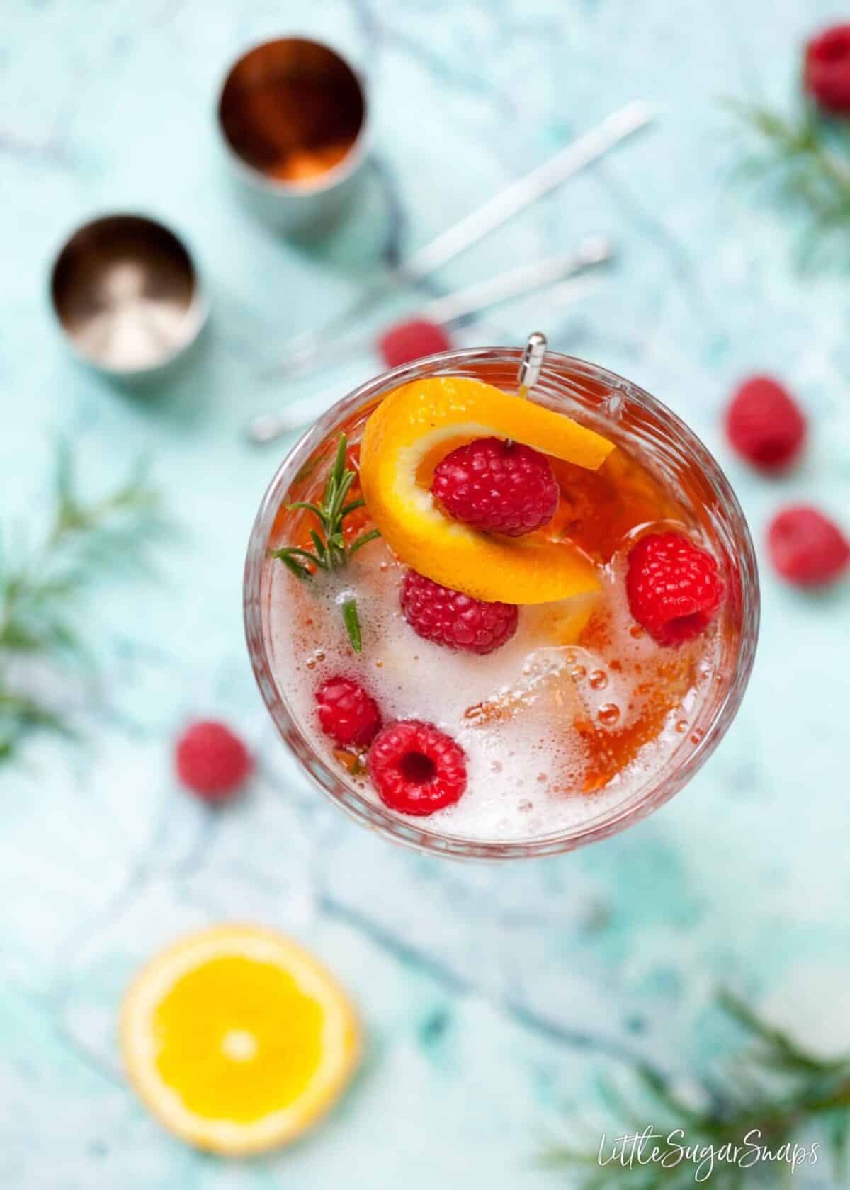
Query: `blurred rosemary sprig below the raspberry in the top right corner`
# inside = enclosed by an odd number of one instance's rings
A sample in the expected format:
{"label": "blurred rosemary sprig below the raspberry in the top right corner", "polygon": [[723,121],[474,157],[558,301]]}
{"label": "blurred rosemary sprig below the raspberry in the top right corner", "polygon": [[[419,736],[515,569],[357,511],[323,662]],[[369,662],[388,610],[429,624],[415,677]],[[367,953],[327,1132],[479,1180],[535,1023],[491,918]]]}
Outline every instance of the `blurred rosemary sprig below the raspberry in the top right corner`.
{"label": "blurred rosemary sprig below the raspberry in the top right corner", "polygon": [[801,263],[836,263],[838,237],[850,256],[850,123],[827,119],[808,101],[788,117],[757,104],[732,100],[727,106],[761,144],[744,163],[746,173],[775,180],[811,217]]}

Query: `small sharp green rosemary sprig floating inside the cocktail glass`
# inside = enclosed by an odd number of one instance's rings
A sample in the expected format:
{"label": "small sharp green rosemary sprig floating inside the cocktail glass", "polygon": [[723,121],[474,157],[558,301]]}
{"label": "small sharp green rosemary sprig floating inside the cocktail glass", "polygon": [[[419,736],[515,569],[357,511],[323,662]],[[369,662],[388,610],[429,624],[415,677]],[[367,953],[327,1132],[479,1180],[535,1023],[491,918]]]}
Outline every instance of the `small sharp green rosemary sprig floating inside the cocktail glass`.
{"label": "small sharp green rosemary sprig floating inside the cocktail glass", "polygon": [[[343,521],[349,513],[356,512],[356,509],[363,508],[365,505],[365,500],[346,501],[351,484],[355,481],[355,472],[345,466],[346,447],[348,440],[345,434],[340,433],[337,453],[325,482],[325,490],[320,501],[295,500],[287,506],[289,511],[304,508],[312,513],[319,521],[319,528],[321,530],[320,533],[314,528],[310,531],[310,538],[313,543],[312,550],[298,545],[285,545],[282,549],[271,552],[271,557],[279,558],[296,578],[310,581],[313,578],[315,570],[324,570],[326,572],[340,570],[348,564],[352,555],[381,536],[379,530],[373,528],[368,533],[362,533],[350,545],[345,541]],[[357,613],[357,601],[354,597],[346,599],[343,602],[342,614],[351,647],[358,653],[363,649],[363,639]]]}

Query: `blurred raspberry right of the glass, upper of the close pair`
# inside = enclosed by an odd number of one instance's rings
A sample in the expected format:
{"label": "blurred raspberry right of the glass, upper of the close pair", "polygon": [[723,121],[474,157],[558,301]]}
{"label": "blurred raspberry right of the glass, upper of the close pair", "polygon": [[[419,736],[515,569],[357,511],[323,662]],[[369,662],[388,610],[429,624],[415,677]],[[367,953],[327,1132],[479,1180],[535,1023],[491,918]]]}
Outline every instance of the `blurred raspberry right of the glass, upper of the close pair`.
{"label": "blurred raspberry right of the glass, upper of the close pair", "polygon": [[770,376],[750,376],[726,409],[735,450],[763,471],[781,471],[800,453],[806,421],[792,396]]}

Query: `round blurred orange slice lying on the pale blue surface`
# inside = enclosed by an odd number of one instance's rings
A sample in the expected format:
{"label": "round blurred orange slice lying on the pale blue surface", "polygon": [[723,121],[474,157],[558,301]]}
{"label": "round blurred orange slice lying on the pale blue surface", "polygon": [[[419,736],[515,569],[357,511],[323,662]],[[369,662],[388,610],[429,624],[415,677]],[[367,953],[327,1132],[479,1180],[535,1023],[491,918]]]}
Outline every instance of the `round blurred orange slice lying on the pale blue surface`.
{"label": "round blurred orange slice lying on the pale blue surface", "polygon": [[282,934],[238,925],[157,954],[127,991],[120,1040],[161,1123],[232,1157],[299,1136],[360,1054],[355,1012],[331,973]]}

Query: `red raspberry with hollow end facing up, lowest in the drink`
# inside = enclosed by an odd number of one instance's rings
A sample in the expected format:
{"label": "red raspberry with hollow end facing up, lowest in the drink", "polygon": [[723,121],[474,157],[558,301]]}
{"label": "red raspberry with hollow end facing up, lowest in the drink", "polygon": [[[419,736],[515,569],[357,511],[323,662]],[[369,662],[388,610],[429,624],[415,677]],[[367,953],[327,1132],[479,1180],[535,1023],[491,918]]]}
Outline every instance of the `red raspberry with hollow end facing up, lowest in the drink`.
{"label": "red raspberry with hollow end facing up, lowest in the drink", "polygon": [[388,724],[375,737],[367,764],[381,801],[401,814],[433,814],[467,788],[463,749],[420,719]]}

